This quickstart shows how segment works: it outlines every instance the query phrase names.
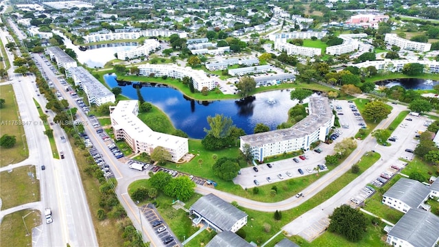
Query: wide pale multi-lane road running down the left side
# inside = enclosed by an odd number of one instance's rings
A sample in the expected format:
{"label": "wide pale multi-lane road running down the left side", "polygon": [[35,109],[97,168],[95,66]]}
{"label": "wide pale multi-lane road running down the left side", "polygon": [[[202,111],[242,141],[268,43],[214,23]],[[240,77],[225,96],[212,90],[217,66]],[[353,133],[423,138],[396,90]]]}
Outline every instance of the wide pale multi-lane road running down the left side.
{"label": "wide pale multi-lane road running down the left side", "polygon": [[[16,29],[14,23],[12,27]],[[6,32],[1,32],[3,43],[7,35]],[[13,57],[10,54],[8,56],[12,62]],[[53,158],[49,139],[43,133],[45,128],[33,101],[36,99],[44,109],[45,98],[38,96],[33,75],[23,77],[15,74],[13,70],[12,67],[8,73],[13,79],[12,86],[19,105],[21,121],[29,123],[24,126],[29,148],[27,162],[37,165],[37,178],[40,179],[41,206],[39,210],[43,212],[44,208],[50,207],[54,217],[54,222],[51,224],[45,224],[45,220],[42,219],[43,237],[39,239],[36,246],[65,246],[67,243],[72,246],[97,246],[93,221],[71,147],[69,143],[62,143],[59,138],[56,138],[58,150],[64,149],[67,155],[63,160]],[[52,128],[55,137],[66,136],[60,126],[52,126]],[[39,168],[40,165],[46,166],[45,171]],[[44,216],[44,213],[42,215]]]}

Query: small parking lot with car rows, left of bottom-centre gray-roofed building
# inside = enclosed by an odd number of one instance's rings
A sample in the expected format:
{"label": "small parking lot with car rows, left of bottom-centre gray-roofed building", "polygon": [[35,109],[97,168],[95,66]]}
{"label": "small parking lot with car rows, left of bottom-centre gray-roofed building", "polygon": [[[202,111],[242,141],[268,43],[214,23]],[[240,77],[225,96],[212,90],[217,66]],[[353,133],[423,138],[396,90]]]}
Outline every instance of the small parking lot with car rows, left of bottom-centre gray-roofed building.
{"label": "small parking lot with car rows, left of bottom-centre gray-roofed building", "polygon": [[[154,229],[154,233],[150,234],[156,234],[161,241],[163,242],[164,246],[171,247],[171,246],[180,246],[178,239],[175,237],[174,233],[169,229],[169,226],[166,225],[166,222],[163,220],[163,218],[160,216],[160,214],[156,211],[153,204],[147,204],[140,207],[141,213],[147,220],[147,223],[152,226]],[[171,239],[172,240],[169,240]],[[168,239],[168,241],[165,241]]]}

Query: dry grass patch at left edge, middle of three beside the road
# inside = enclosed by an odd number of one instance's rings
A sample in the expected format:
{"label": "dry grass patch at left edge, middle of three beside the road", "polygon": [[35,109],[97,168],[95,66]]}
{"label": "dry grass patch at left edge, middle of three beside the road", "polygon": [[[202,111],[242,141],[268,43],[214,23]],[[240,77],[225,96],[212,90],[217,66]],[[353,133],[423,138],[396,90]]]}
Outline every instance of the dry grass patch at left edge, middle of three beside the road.
{"label": "dry grass patch at left edge, middle of three beside the road", "polygon": [[1,210],[40,200],[40,183],[35,169],[34,165],[26,165],[0,173]]}

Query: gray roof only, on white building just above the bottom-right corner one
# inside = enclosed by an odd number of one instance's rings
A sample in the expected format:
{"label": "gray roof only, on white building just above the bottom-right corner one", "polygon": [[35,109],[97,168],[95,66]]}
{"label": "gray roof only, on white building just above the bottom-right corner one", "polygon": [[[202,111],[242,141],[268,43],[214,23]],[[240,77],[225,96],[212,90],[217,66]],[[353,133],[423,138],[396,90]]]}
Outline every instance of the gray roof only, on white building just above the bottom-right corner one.
{"label": "gray roof only, on white building just above the bottom-right corner one", "polygon": [[409,178],[401,178],[383,196],[401,200],[412,209],[416,209],[429,193],[430,190],[422,183]]}

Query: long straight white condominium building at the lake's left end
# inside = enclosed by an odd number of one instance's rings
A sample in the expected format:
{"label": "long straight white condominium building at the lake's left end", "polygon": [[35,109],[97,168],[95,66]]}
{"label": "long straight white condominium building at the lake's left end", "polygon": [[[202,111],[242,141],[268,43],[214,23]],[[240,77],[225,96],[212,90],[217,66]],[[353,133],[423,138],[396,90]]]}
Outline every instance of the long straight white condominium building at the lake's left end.
{"label": "long straight white condominium building at the lake's left end", "polygon": [[67,76],[73,78],[75,85],[84,90],[90,104],[100,106],[115,103],[115,95],[83,67],[71,67],[66,72]]}

